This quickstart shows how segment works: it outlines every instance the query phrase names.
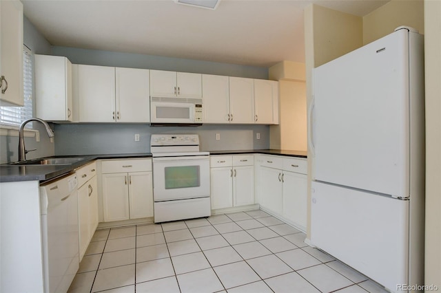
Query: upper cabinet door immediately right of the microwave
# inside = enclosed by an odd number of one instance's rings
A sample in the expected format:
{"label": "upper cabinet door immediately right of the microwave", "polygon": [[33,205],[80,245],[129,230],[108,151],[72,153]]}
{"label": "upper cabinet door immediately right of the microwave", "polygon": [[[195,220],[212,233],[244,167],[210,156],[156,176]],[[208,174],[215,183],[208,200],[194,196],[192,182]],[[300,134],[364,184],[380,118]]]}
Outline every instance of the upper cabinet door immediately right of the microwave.
{"label": "upper cabinet door immediately right of the microwave", "polygon": [[203,74],[204,123],[229,123],[228,76]]}

